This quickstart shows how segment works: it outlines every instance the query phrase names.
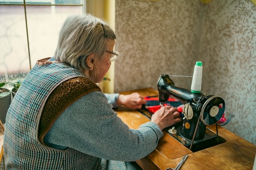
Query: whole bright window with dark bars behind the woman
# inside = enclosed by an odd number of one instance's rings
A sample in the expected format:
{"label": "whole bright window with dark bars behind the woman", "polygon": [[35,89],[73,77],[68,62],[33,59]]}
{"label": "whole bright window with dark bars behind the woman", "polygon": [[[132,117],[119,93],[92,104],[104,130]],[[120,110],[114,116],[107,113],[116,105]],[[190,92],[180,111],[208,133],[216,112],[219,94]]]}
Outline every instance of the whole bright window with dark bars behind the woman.
{"label": "whole bright window with dark bars behind the woman", "polygon": [[66,17],[82,0],[0,0],[0,83],[24,78],[38,59],[52,57]]}

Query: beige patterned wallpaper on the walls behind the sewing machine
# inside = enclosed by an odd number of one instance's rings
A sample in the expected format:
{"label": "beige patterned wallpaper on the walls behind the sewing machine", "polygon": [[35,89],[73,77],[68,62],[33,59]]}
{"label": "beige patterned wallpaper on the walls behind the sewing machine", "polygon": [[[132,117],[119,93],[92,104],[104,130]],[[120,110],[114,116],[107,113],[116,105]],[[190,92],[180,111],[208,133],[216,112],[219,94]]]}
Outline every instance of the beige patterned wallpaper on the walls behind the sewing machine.
{"label": "beige patterned wallpaper on the walls behind the sewing machine", "polygon": [[[256,144],[256,5],[250,0],[116,0],[115,92],[152,87],[163,73],[192,76],[226,103],[223,127]],[[171,77],[190,89],[192,78]]]}

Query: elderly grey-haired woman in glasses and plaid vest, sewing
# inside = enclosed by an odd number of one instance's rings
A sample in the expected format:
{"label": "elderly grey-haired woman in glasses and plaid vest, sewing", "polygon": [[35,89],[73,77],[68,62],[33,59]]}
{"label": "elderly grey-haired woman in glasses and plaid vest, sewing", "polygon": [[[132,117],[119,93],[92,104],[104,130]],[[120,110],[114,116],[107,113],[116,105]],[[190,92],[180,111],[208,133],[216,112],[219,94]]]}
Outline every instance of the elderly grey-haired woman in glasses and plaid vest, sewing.
{"label": "elderly grey-haired woman in glasses and plaid vest, sewing", "polygon": [[177,108],[162,107],[150,122],[129,129],[112,109],[139,109],[139,94],[104,94],[101,82],[116,35],[89,14],[67,17],[55,55],[37,61],[13,98],[4,133],[6,169],[135,169],[157,146],[162,130],[180,122]]}

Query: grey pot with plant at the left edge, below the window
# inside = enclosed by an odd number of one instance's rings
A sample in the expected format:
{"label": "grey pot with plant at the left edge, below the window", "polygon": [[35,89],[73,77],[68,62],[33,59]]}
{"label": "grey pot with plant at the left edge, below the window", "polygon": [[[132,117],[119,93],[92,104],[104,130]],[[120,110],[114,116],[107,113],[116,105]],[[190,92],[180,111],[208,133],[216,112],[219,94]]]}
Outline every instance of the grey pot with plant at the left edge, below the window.
{"label": "grey pot with plant at the left edge, below the window", "polygon": [[6,113],[11,105],[11,91],[4,88],[6,83],[0,83],[0,120],[5,123]]}

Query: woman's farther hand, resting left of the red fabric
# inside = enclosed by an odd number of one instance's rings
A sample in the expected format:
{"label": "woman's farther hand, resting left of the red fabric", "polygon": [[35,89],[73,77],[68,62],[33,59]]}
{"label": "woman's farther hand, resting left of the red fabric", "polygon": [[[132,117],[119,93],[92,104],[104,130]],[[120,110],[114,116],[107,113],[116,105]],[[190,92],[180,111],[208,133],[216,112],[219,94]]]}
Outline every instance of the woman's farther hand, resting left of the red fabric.
{"label": "woman's farther hand, resting left of the red fabric", "polygon": [[146,100],[138,93],[128,95],[120,94],[117,99],[117,104],[129,109],[140,109],[142,105],[146,104]]}

